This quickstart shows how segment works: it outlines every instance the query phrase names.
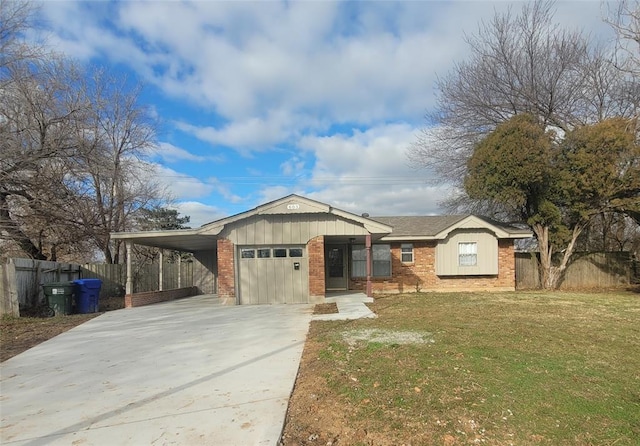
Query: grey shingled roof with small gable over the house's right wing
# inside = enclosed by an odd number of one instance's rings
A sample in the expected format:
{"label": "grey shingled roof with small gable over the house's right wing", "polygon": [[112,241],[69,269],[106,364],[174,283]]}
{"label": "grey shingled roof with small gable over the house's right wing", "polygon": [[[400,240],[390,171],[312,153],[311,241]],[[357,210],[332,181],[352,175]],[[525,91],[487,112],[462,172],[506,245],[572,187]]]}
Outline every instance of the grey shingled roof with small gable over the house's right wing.
{"label": "grey shingled roof with small gable over the house's right wing", "polygon": [[371,218],[393,227],[393,232],[383,240],[442,240],[456,229],[485,229],[497,238],[528,238],[533,235],[527,229],[472,214]]}

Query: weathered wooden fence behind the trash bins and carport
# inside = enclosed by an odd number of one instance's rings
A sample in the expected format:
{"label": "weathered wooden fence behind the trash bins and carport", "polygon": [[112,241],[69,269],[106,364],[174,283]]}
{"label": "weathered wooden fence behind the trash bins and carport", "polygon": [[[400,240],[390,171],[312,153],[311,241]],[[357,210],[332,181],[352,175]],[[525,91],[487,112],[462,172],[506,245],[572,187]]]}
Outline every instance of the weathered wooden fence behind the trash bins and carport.
{"label": "weathered wooden fence behind the trash bins and carport", "polygon": [[[159,289],[159,265],[133,265],[134,292]],[[44,299],[42,285],[71,282],[76,279],[100,279],[100,297],[124,296],[126,265],[49,262],[9,259],[0,265],[0,316],[19,315],[19,306],[33,306]],[[165,263],[162,289],[193,286],[193,263]]]}

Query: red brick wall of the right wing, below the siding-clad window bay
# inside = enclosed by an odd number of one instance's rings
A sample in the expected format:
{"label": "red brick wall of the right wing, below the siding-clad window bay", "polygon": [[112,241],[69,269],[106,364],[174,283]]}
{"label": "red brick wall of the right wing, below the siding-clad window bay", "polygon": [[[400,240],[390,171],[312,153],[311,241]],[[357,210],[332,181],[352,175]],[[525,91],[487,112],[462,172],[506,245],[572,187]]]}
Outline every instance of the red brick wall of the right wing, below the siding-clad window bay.
{"label": "red brick wall of the right wing, below the siding-clad window bay", "polygon": [[[442,276],[435,272],[436,242],[414,242],[413,263],[400,261],[400,243],[391,244],[390,278],[371,278],[374,293],[415,291],[514,290],[515,255],[513,240],[498,241],[497,276]],[[366,278],[351,279],[349,288],[365,290]]]}

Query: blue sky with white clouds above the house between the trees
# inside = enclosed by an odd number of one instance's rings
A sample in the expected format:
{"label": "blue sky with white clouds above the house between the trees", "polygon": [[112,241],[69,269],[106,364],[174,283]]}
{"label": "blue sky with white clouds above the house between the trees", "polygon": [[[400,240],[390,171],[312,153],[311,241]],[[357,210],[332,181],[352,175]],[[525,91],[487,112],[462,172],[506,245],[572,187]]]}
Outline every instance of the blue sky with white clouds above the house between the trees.
{"label": "blue sky with white clouds above the house between the trees", "polygon": [[[371,215],[441,213],[449,191],[406,150],[435,80],[468,48],[488,1],[43,3],[47,41],[145,85],[154,156],[199,226],[298,193]],[[558,2],[564,26],[610,34],[599,1]],[[610,37],[610,36],[609,36]]]}

